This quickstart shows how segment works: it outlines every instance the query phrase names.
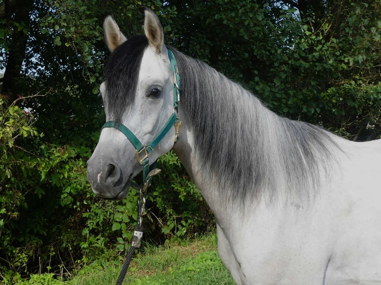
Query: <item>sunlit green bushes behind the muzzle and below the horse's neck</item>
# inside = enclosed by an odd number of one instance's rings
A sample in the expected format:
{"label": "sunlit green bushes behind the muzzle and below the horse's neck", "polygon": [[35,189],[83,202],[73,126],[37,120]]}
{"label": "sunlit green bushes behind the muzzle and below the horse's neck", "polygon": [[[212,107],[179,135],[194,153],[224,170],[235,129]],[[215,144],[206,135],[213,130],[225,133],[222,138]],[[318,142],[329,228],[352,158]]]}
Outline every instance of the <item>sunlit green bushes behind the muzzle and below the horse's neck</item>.
{"label": "sunlit green bushes behind the muzzle and below the horse's neck", "polygon": [[[90,147],[44,142],[31,113],[15,104],[5,107],[4,100],[0,106],[4,282],[41,272],[65,277],[110,249],[116,248],[116,255],[124,252],[137,221],[138,192],[130,189],[117,202],[96,198],[86,179]],[[97,136],[92,134],[95,141]],[[163,156],[158,167],[163,172],[149,188],[145,240],[160,242],[208,229],[212,215],[177,156]]]}

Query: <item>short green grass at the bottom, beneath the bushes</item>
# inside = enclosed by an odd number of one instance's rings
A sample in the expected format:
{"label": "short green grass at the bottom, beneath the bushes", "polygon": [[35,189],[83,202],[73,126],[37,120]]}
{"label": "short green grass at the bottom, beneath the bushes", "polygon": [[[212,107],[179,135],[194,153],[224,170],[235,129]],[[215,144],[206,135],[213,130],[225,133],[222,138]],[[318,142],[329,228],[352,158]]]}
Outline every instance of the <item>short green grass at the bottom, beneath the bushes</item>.
{"label": "short green grass at the bottom, beneath the bushes", "polygon": [[[163,246],[143,245],[127,271],[124,285],[234,285],[216,250],[216,236],[171,240]],[[120,262],[97,262],[84,267],[64,285],[115,284]],[[52,283],[55,284],[55,283]]]}

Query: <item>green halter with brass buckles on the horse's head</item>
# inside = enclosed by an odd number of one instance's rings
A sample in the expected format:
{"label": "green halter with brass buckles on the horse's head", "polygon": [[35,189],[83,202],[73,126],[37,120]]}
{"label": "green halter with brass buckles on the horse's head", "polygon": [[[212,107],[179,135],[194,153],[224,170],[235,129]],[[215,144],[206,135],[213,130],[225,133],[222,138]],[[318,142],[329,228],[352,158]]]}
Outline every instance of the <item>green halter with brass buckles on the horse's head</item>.
{"label": "green halter with brass buckles on the horse's head", "polygon": [[160,143],[160,141],[167,135],[172,126],[175,126],[176,135],[175,135],[175,143],[179,139],[179,128],[181,125],[181,121],[178,117],[178,108],[180,101],[180,89],[181,89],[181,81],[179,71],[177,69],[177,63],[175,56],[171,50],[168,49],[168,56],[171,62],[171,68],[174,72],[174,108],[171,117],[168,119],[167,124],[163,127],[160,133],[152,140],[151,143],[148,143],[146,146],[139,141],[139,139],[121,123],[116,121],[107,121],[104,123],[102,130],[104,128],[115,128],[127,137],[127,139],[132,143],[132,145],[136,149],[136,159],[143,166],[143,186],[147,188],[151,184],[152,177],[160,172],[158,169],[154,169],[150,171],[150,163],[149,157],[151,152],[155,149],[155,147]]}

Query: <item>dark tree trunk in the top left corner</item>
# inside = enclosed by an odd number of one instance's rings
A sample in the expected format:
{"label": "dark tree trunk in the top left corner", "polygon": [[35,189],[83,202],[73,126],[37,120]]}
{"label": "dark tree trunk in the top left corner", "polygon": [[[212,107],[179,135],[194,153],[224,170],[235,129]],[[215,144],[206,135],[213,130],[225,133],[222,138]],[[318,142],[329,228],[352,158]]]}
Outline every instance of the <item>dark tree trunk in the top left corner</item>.
{"label": "dark tree trunk in the top left corner", "polygon": [[[29,27],[29,13],[32,9],[33,0],[5,0],[4,1],[4,17],[7,24],[23,23],[26,28]],[[28,41],[28,33],[24,29],[18,31],[14,29],[11,36],[11,44],[7,62],[2,78],[1,93],[5,95],[9,102],[13,102],[17,94],[17,79],[20,76],[22,62],[25,57],[26,45]]]}

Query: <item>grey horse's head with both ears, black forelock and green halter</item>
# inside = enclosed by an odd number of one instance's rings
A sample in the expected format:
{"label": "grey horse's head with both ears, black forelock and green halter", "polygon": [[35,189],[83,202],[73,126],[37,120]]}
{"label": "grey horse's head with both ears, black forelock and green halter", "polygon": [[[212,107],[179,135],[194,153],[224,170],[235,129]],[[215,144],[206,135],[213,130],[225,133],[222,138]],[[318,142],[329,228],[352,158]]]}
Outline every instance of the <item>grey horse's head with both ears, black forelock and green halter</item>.
{"label": "grey horse's head with both ears, black forelock and green halter", "polygon": [[88,161],[87,178],[97,196],[120,200],[131,179],[174,145],[176,75],[151,10],[145,10],[145,35],[127,39],[112,16],[103,29],[111,51],[99,88],[107,122]]}

